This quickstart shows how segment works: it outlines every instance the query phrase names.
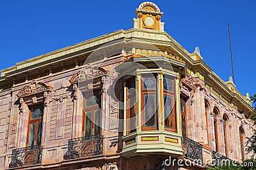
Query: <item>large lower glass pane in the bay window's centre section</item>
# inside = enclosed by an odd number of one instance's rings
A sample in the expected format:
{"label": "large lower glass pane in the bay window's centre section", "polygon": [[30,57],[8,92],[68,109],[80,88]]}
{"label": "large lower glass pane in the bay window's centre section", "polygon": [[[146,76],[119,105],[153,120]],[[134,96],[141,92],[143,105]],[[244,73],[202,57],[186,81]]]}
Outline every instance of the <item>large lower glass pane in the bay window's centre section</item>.
{"label": "large lower glass pane in the bay window's centre section", "polygon": [[144,122],[145,127],[156,127],[156,95],[144,94]]}

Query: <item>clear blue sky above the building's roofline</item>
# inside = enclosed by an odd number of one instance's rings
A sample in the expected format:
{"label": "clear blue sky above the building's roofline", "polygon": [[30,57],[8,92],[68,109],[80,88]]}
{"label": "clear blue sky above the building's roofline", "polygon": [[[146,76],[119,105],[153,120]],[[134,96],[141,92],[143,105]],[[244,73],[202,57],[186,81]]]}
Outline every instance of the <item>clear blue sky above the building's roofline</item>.
{"label": "clear blue sky above the building's roofline", "polygon": [[[143,1],[0,0],[0,69],[118,29],[130,29]],[[164,12],[165,31],[189,52],[200,47],[204,61],[223,80],[256,93],[256,1],[152,1]]]}

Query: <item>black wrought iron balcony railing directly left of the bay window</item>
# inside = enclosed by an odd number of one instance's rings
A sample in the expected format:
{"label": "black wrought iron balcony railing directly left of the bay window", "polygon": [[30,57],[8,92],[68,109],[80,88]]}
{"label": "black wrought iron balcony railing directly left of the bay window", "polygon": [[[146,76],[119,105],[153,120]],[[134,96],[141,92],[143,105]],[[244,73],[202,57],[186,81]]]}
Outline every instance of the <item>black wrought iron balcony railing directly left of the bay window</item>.
{"label": "black wrought iron balcony railing directly left of the bay window", "polygon": [[103,154],[103,136],[93,135],[68,139],[68,151],[64,160],[91,157]]}

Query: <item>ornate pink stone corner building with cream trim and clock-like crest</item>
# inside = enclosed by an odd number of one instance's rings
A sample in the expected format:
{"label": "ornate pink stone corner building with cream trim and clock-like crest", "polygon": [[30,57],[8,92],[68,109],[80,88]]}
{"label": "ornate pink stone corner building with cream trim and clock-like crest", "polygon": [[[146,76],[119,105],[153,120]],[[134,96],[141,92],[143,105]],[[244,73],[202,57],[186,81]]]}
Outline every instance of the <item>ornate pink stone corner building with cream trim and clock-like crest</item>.
{"label": "ornate pink stone corner building with cream trim and clock-like crest", "polygon": [[1,169],[205,169],[254,157],[249,95],[164,32],[156,4],[136,15],[132,29],[1,71]]}

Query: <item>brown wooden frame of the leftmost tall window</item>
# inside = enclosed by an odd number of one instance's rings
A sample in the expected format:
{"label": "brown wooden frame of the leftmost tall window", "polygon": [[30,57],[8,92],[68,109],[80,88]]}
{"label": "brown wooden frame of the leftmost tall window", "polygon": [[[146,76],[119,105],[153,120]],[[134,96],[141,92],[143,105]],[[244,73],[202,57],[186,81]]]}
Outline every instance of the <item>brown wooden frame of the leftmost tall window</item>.
{"label": "brown wooden frame of the leftmost tall window", "polygon": [[[26,141],[26,146],[28,147],[28,142],[29,142],[29,130],[30,130],[30,125],[31,124],[36,124],[35,125],[35,141],[34,141],[34,145],[31,145],[31,146],[36,146],[35,143],[37,141],[37,128],[38,128],[38,123],[41,122],[41,124],[43,125],[43,116],[44,116],[44,111],[42,113],[42,117],[41,118],[36,118],[34,120],[30,120],[31,119],[31,108],[34,108],[34,107],[38,107],[38,106],[42,106],[44,107],[44,104],[36,104],[36,105],[33,105],[33,106],[29,106],[29,117],[28,117],[28,130],[27,130],[27,141]],[[43,127],[43,126],[42,126]],[[42,128],[43,129],[43,128]],[[41,129],[41,138],[42,138],[42,129]],[[40,145],[42,144],[42,139],[40,139]]]}

